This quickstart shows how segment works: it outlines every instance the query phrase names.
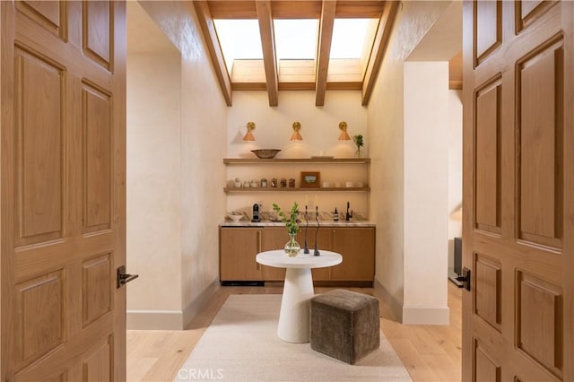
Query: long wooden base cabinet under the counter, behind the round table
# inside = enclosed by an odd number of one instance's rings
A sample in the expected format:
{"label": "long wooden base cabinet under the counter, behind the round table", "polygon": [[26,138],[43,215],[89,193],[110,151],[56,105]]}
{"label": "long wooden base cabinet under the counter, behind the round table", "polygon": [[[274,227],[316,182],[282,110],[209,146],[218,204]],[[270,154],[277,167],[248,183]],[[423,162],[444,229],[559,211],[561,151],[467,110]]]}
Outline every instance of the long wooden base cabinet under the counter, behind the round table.
{"label": "long wooden base cabinet under the counter, behind the round table", "polygon": [[[340,253],[343,263],[312,270],[315,282],[373,282],[375,275],[374,227],[309,227],[307,241],[313,253],[317,247]],[[283,282],[285,270],[258,265],[257,253],[283,248],[287,240],[284,227],[222,227],[220,229],[220,277],[222,282]],[[305,228],[297,235],[305,245]],[[302,251],[302,249],[301,249]]]}

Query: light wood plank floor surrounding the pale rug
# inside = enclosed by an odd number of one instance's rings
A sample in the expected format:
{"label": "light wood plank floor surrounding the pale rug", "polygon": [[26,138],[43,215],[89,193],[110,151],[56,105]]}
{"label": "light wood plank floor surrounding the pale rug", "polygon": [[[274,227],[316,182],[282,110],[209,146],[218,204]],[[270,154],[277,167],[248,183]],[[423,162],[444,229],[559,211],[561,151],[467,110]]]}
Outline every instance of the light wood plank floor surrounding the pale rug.
{"label": "light wood plank floor surrounding the pale rug", "polygon": [[[316,293],[332,288],[315,288]],[[230,294],[281,293],[283,287],[221,287],[209,306],[183,331],[128,330],[127,380],[172,381]],[[352,288],[379,297],[372,288]],[[460,381],[461,290],[448,282],[449,326],[403,326],[380,300],[380,325],[413,381]]]}

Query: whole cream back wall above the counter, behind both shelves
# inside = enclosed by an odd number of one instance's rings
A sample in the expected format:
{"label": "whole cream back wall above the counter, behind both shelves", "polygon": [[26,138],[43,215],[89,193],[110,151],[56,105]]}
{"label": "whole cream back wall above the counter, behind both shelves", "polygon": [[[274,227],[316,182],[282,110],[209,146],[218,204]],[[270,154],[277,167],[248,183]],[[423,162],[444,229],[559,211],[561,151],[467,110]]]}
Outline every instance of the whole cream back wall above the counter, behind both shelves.
{"label": "whole cream back wall above the counter, behind both shelves", "polygon": [[[256,141],[244,142],[243,136],[247,131],[247,123],[256,123],[253,135]],[[292,124],[299,121],[300,135],[303,140],[291,142]],[[352,158],[356,146],[352,141],[338,141],[339,122],[347,122],[349,135],[363,135],[365,145],[364,156],[368,157],[371,149],[367,131],[367,109],[361,106],[361,91],[327,91],[325,106],[315,106],[315,91],[281,91],[279,105],[270,108],[266,91],[234,91],[233,107],[229,110],[227,124],[227,157],[255,158],[251,152],[254,149],[281,149],[276,158],[309,158],[312,155],[332,155],[335,158]],[[280,166],[230,166],[228,178],[222,179],[222,184],[233,178],[250,180],[267,178],[294,178],[296,185],[300,184],[300,171],[319,171],[321,181],[331,185],[339,182],[344,186],[346,181],[353,184],[369,180],[369,167],[356,164],[317,165],[297,164]],[[251,193],[230,194],[227,199],[229,211],[251,210],[254,203],[263,205],[263,211],[271,211],[272,204],[277,203],[285,208],[293,201],[305,204],[309,197],[309,208],[315,208],[317,196],[319,208],[323,212],[339,211],[345,208],[346,202],[351,203],[353,211],[361,216],[369,216],[370,195],[358,192],[317,192],[309,191],[296,193]],[[311,203],[312,202],[312,203]]]}

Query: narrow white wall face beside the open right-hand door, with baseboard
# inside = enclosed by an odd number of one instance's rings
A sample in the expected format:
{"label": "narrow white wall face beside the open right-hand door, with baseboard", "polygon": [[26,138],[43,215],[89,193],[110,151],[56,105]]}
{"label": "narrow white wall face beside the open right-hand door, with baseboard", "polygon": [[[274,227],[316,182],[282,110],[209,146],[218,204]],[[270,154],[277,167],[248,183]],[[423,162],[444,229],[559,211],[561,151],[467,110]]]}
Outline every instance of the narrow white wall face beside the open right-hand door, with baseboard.
{"label": "narrow white wall face beside the open right-hand door, with baseboard", "polygon": [[404,63],[404,324],[448,324],[448,62]]}

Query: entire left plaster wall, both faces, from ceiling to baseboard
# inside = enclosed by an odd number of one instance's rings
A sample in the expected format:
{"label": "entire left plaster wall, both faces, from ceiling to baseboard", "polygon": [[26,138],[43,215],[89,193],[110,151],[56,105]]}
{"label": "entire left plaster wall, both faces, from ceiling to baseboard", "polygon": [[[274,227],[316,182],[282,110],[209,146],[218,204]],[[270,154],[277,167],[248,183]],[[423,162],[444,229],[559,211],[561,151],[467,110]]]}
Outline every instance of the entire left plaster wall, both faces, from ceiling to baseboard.
{"label": "entire left plaster wall, both faces, from ceiling to baseboard", "polygon": [[[137,139],[128,143],[134,155],[128,153],[127,163],[133,170],[127,263],[130,272],[141,274],[128,287],[128,326],[182,329],[219,285],[218,223],[225,198],[213,189],[221,189],[225,178],[228,109],[193,8],[183,2],[140,4],[177,58],[128,56],[127,128]],[[162,95],[168,100],[158,100]]]}

